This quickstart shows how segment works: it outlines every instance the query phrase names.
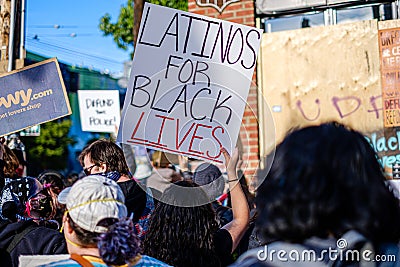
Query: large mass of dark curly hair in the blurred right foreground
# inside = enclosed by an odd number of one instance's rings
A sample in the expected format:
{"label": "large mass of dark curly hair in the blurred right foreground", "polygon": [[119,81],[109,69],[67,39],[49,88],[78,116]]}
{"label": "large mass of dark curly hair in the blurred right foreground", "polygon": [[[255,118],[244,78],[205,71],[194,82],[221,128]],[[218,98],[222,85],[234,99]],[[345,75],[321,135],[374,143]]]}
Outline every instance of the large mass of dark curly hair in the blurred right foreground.
{"label": "large mass of dark curly hair in the blurred right foreground", "polygon": [[289,133],[258,177],[257,227],[267,239],[301,242],[357,230],[373,242],[400,239],[399,201],[363,135],[329,122]]}

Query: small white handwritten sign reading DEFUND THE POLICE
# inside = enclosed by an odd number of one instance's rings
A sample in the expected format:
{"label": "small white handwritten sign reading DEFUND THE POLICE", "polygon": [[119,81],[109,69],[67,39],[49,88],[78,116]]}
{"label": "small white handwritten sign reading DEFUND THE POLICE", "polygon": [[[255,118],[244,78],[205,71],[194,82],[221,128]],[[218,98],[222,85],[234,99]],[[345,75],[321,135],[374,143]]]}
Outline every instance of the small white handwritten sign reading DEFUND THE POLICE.
{"label": "small white handwritten sign reading DEFUND THE POLICE", "polygon": [[82,131],[114,133],[121,114],[118,90],[78,90]]}

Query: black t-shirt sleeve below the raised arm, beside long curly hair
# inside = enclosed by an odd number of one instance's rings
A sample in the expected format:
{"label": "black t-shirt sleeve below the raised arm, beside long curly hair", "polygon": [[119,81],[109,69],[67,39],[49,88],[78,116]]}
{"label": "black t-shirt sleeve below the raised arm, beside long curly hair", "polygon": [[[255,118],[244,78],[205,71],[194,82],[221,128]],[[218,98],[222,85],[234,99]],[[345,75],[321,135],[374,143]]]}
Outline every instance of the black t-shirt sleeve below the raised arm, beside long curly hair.
{"label": "black t-shirt sleeve below the raised arm, beside long curly hair", "polygon": [[226,229],[219,229],[214,235],[215,252],[221,262],[221,266],[233,263],[232,236]]}

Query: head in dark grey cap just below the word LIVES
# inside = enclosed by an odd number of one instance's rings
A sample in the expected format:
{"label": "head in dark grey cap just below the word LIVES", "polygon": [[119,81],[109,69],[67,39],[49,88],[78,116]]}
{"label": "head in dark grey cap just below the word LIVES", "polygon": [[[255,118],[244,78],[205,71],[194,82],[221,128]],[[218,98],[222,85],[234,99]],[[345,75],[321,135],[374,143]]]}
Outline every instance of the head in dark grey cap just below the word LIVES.
{"label": "head in dark grey cap just below the word LIVES", "polygon": [[192,180],[203,188],[211,201],[224,192],[225,179],[222,176],[221,170],[214,164],[202,163],[197,166]]}

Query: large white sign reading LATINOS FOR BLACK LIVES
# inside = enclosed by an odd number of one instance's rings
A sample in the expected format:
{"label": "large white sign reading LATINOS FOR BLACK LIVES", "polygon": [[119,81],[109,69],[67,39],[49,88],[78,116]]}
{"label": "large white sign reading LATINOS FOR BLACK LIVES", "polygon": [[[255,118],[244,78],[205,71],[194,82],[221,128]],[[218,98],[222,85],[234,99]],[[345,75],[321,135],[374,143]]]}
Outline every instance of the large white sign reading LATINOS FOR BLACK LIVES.
{"label": "large white sign reading LATINOS FOR BLACK LIVES", "polygon": [[119,141],[222,162],[220,147],[236,144],[261,35],[146,3]]}

